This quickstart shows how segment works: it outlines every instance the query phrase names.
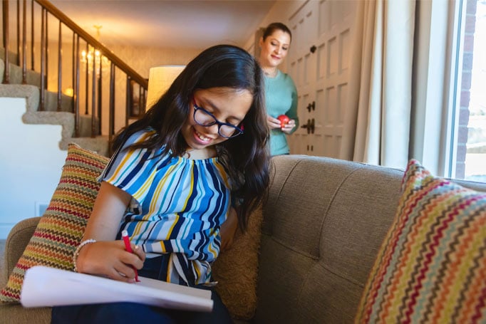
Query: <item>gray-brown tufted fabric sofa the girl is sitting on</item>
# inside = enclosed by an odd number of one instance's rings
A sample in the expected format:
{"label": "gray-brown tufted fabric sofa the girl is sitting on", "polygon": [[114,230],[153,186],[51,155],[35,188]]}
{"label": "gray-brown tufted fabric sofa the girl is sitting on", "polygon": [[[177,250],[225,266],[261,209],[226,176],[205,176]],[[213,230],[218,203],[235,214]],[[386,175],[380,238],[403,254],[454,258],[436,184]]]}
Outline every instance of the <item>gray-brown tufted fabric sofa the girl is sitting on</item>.
{"label": "gray-brown tufted fabric sofa the girl is sitting on", "polygon": [[[274,157],[264,204],[254,323],[352,323],[393,221],[403,170],[323,157]],[[460,181],[486,191],[486,184]],[[38,219],[6,243],[2,285]],[[2,323],[48,323],[48,308],[0,305]]]}

